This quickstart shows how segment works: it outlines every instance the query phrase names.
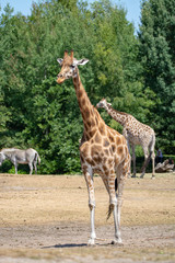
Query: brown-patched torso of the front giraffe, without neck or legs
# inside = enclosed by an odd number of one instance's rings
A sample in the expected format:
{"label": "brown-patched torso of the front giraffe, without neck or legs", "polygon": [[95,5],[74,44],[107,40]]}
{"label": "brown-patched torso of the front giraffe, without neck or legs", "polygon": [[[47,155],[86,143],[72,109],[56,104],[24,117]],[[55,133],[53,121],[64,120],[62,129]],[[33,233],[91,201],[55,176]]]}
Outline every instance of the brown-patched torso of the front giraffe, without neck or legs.
{"label": "brown-patched torso of the front giraffe, without neck or legs", "polygon": [[127,145],[124,136],[117,138],[108,133],[101,136],[97,132],[90,140],[80,147],[80,158],[83,169],[92,168],[93,172],[106,174],[124,160]]}

